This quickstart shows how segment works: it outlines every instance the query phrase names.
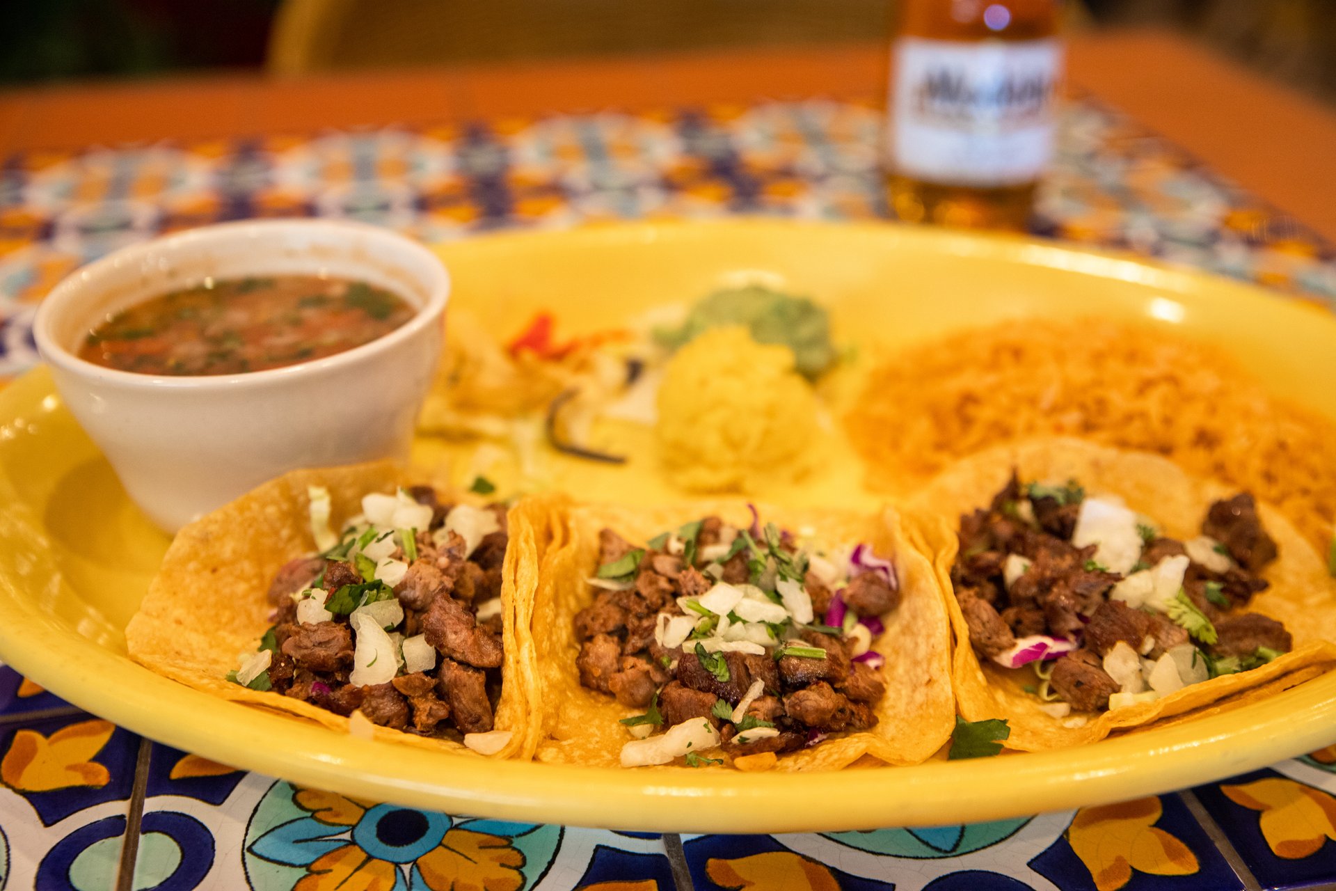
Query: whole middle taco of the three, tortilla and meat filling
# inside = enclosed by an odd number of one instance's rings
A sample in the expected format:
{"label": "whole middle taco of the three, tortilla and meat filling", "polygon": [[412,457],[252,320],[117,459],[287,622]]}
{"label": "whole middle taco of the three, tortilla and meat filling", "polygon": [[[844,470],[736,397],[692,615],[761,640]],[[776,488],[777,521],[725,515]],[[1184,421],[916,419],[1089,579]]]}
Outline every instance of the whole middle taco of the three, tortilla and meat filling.
{"label": "whole middle taco of the three, tortilla and meat filling", "polygon": [[538,760],[835,769],[919,763],[950,736],[946,609],[894,510],[557,514],[532,622]]}

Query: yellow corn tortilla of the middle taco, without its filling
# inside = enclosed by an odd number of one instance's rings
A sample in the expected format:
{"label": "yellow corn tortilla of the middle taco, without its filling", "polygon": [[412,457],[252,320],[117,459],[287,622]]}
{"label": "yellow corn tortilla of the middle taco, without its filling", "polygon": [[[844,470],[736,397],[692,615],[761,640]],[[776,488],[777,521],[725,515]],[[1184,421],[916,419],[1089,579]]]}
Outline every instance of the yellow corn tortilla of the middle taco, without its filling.
{"label": "yellow corn tortilla of the middle taco, without its filling", "polygon": [[[574,616],[593,601],[585,582],[599,561],[599,530],[611,528],[629,541],[647,541],[665,529],[703,516],[717,514],[747,526],[741,504],[692,504],[676,508],[628,509],[565,505],[556,512],[566,530],[554,533],[560,546],[546,552],[538,573],[532,631],[540,675],[542,735],[540,761],[616,767],[624,743],[631,740],[619,720],[636,715],[616,699],[580,685]],[[900,605],[886,622],[886,632],[872,648],[886,656],[886,695],[876,704],[878,724],[871,731],[834,736],[802,752],[770,759],[743,760],[749,769],[808,771],[846,767],[864,755],[886,764],[918,764],[937,752],[954,727],[949,683],[950,627],[933,565],[915,549],[902,529],[899,516],[850,512],[779,510],[762,508],[762,516],[788,529],[810,528],[830,544],[867,541],[878,554],[891,556],[900,578]],[[521,632],[525,628],[520,622]],[[884,641],[878,645],[879,641]],[[677,769],[677,768],[671,768]],[[684,768],[685,769],[685,768]],[[691,768],[697,769],[697,768]]]}

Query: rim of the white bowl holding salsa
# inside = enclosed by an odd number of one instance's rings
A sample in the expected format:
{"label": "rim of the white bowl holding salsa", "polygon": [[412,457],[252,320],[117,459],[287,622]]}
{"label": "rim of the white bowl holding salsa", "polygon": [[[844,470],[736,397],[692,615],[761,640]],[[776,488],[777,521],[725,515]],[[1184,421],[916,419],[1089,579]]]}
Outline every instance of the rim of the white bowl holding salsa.
{"label": "rim of the white bowl holding salsa", "polygon": [[[277,369],[265,369],[262,371],[239,371],[236,374],[192,374],[192,375],[172,375],[172,374],[140,374],[138,371],[122,371],[119,369],[110,369],[96,362],[90,362],[88,359],[81,359],[64,346],[56,342],[51,335],[49,327],[52,325],[52,317],[59,317],[61,311],[61,303],[68,299],[65,294],[69,294],[77,289],[87,287],[81,277],[95,277],[100,275],[118,263],[128,260],[139,260],[144,256],[152,254],[154,251],[162,250],[164,244],[180,244],[191,242],[204,242],[207,243],[216,232],[223,231],[239,231],[246,228],[258,230],[283,230],[283,228],[305,228],[305,230],[331,230],[335,234],[347,235],[365,235],[370,238],[379,238],[391,242],[398,242],[399,247],[405,248],[410,254],[417,254],[421,259],[429,260],[428,269],[432,270],[432,278],[434,281],[428,282],[426,301],[418,307],[417,313],[403,325],[398,326],[393,331],[387,331],[374,341],[367,341],[359,346],[350,350],[343,350],[342,353],[334,353],[333,355],[326,355],[318,359],[309,359],[305,362],[295,362],[293,365],[285,365]],[[80,278],[76,278],[80,277]],[[450,274],[445,269],[441,259],[433,254],[425,244],[418,240],[395,232],[391,228],[385,228],[382,226],[371,226],[369,223],[359,223],[355,220],[341,220],[341,219],[322,219],[314,216],[295,216],[283,219],[240,219],[228,220],[224,223],[210,223],[207,226],[198,226],[195,228],[187,228],[179,232],[172,232],[170,235],[159,235],[156,238],[148,239],[147,242],[140,242],[138,244],[128,244],[119,250],[107,254],[106,256],[94,260],[86,266],[69,273],[64,279],[61,279],[51,291],[43,298],[41,303],[37,306],[37,313],[32,322],[32,335],[37,343],[37,353],[41,355],[43,361],[52,365],[57,365],[64,370],[81,375],[84,378],[95,378],[104,383],[120,385],[126,387],[144,387],[144,389],[172,389],[172,390],[222,390],[227,387],[236,386],[266,386],[286,382],[294,378],[303,378],[309,375],[322,374],[326,371],[337,371],[347,365],[355,365],[365,358],[370,358],[377,353],[383,350],[394,349],[403,341],[413,338],[418,331],[421,331],[428,325],[440,323],[441,315],[445,311],[446,302],[450,295]]]}

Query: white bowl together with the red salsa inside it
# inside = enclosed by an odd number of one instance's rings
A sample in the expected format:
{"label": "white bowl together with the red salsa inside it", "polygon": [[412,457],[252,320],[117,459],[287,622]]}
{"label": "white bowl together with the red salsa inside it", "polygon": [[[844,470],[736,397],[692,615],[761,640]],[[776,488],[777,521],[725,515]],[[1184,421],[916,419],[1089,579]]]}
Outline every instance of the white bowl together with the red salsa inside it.
{"label": "white bowl together with the red salsa inside it", "polygon": [[33,335],[127,493],[175,530],[287,470],[406,457],[448,297],[436,255],[387,230],[222,223],[75,271]]}

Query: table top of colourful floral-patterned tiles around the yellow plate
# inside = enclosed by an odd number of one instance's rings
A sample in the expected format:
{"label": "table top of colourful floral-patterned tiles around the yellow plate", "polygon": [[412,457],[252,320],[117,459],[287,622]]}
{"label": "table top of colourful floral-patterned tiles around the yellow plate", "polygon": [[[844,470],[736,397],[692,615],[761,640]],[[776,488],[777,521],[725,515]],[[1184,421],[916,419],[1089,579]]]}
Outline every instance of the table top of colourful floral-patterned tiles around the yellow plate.
{"label": "table top of colourful floral-patterned tiles around the yellow plate", "polygon": [[[621,218],[878,216],[879,126],[871,102],[803,102],[17,154],[0,172],[0,374],[33,363],[32,311],[60,277],[158,232],[319,214],[441,242]],[[1092,102],[1065,110],[1035,228],[1336,306],[1331,244]],[[1336,748],[987,824],[632,835],[295,789],[142,740],[0,668],[0,890],[1332,886],[1333,764]]]}

